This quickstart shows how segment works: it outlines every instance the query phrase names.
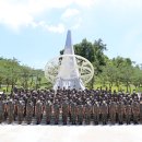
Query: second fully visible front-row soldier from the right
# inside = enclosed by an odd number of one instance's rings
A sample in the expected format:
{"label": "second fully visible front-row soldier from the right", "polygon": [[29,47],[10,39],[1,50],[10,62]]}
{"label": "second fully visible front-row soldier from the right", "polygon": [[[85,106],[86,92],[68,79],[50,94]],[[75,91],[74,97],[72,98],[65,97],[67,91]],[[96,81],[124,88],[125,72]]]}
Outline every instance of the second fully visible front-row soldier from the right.
{"label": "second fully visible front-row soldier from the right", "polygon": [[126,104],[126,121],[127,121],[127,125],[130,125],[131,115],[132,115],[131,104],[130,104],[130,102],[127,102],[127,104]]}

